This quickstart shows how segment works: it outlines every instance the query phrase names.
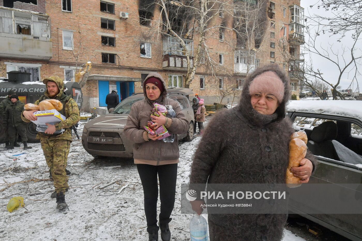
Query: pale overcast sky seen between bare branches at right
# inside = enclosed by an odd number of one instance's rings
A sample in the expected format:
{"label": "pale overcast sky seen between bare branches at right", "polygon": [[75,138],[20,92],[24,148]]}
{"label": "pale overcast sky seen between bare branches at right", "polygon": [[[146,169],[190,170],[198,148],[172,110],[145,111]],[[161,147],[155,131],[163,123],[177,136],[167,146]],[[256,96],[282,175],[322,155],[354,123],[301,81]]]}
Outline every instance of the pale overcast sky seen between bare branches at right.
{"label": "pale overcast sky seen between bare branches at right", "polygon": [[[323,8],[317,9],[317,7],[312,7],[310,8],[310,5],[315,4],[317,2],[320,2],[318,0],[301,0],[300,1],[300,5],[301,7],[304,8],[304,16],[308,17],[308,16],[313,16],[313,14],[318,14],[320,16],[331,16],[331,13],[325,11]],[[306,24],[308,24],[308,26],[310,26],[310,22],[307,22]],[[313,27],[315,30],[311,31],[314,33],[316,31],[317,27]],[[304,34],[306,35],[306,42],[308,41],[309,36],[307,36],[307,32],[304,31]],[[350,34],[346,34],[346,36],[344,38],[342,38],[341,42],[337,42],[338,37],[336,35],[331,36],[330,33],[326,33],[326,34],[320,34],[320,36],[317,37],[317,46],[322,45],[323,47],[328,47],[328,43],[333,43],[333,50],[334,51],[339,51],[339,53],[341,54],[342,52],[342,46],[346,46],[346,47],[352,47],[354,40],[352,39],[352,37],[350,37]],[[358,40],[358,43],[356,44],[357,47],[357,51],[355,52],[355,57],[356,56],[361,56],[362,55],[362,40]],[[321,50],[321,49],[320,49]],[[345,59],[347,62],[350,61],[351,57],[350,57],[350,51],[349,53],[345,53],[344,55]],[[338,80],[338,75],[339,75],[339,71],[337,69],[337,66],[334,65],[332,62],[327,61],[325,58],[320,57],[318,55],[315,54],[308,54],[305,53],[304,58],[306,60],[308,59],[312,59],[313,62],[313,66],[314,68],[318,68],[324,75],[325,79],[328,79],[329,82],[331,83],[337,83]],[[336,60],[336,58],[334,58],[334,60]],[[341,58],[340,58],[341,60]],[[361,61],[360,61],[361,63]],[[341,64],[342,67],[344,67],[344,63]],[[360,68],[360,71],[362,72],[362,68]],[[340,83],[340,86],[342,87],[342,89],[344,88],[348,88],[348,86],[350,85],[350,83],[352,82],[352,78],[354,75],[354,71],[350,71],[350,73],[346,73],[342,76],[342,80]],[[359,75],[357,76],[357,81],[359,84],[359,92],[362,92],[362,76]],[[351,86],[352,88],[352,86]],[[355,89],[357,88],[357,84],[354,82],[353,83],[353,91],[355,91]]]}

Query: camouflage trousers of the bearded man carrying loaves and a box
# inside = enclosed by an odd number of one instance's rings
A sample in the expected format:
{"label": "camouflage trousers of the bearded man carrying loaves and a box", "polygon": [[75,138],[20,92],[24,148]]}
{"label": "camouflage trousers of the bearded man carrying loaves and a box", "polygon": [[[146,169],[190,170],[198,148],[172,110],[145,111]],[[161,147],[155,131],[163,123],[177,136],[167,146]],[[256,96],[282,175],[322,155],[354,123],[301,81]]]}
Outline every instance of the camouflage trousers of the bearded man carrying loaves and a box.
{"label": "camouflage trousers of the bearded man carrying loaves and a box", "polygon": [[40,138],[40,144],[54,181],[56,193],[64,193],[69,188],[66,167],[70,143],[71,141],[68,140]]}

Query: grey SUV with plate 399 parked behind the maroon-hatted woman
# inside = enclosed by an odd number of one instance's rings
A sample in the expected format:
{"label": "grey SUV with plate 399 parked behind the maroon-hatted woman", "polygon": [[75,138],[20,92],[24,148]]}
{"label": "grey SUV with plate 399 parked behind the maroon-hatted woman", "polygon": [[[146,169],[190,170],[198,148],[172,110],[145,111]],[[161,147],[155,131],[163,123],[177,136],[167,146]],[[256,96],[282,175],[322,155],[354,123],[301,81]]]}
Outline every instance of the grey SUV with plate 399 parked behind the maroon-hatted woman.
{"label": "grey SUV with plate 399 parked behind the maroon-hatted woman", "polygon": [[[180,107],[189,122],[187,133],[178,135],[178,140],[184,138],[192,141],[194,138],[194,112],[189,101],[193,92],[188,88],[169,88],[167,97],[180,103]],[[98,116],[87,122],[83,128],[82,144],[84,149],[93,156],[133,157],[134,143],[123,133],[127,116],[133,103],[144,99],[143,93],[134,94],[122,100],[111,113]]]}

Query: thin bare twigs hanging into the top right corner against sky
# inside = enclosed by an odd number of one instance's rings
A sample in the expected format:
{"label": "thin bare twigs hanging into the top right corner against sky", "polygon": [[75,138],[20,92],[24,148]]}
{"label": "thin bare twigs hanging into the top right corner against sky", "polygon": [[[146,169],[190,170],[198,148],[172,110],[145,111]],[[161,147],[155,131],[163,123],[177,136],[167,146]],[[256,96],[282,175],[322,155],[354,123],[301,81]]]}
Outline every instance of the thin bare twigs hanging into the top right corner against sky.
{"label": "thin bare twigs hanging into the top right corner against sky", "polygon": [[[358,30],[362,24],[362,1],[361,0],[321,0],[310,7],[323,8],[329,11],[331,16],[320,16],[315,14],[311,17],[317,25],[327,27],[327,32],[345,36],[351,31],[352,37],[357,38]],[[324,33],[324,30],[322,31]]]}

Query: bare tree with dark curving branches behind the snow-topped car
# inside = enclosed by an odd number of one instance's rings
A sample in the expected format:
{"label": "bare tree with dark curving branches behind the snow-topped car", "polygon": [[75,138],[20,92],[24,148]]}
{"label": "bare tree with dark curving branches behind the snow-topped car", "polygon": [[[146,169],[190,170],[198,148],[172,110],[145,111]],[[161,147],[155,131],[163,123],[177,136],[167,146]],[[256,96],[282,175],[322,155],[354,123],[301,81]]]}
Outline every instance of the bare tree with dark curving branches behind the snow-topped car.
{"label": "bare tree with dark curving branches behind the snow-topped car", "polygon": [[[336,78],[326,79],[323,75],[323,70],[316,69],[313,66],[312,59],[310,61],[304,61],[302,64],[295,61],[295,56],[288,51],[288,46],[285,42],[279,42],[279,51],[281,51],[284,61],[289,63],[289,73],[293,75],[295,79],[299,80],[299,83],[307,88],[316,92],[317,95],[321,96],[321,89],[319,88],[320,84],[323,83],[323,86],[327,85],[332,89],[333,99],[337,99],[337,96],[340,99],[344,100],[344,96],[338,91],[339,84],[341,83],[342,76],[344,74],[352,74],[352,81],[357,83],[357,76],[360,75],[359,68],[361,67],[361,58],[362,53],[359,49],[355,47],[356,43],[360,40],[359,36],[361,35],[361,30],[355,32],[355,39],[353,45],[348,48],[342,46],[341,51],[336,51],[333,49],[333,44],[328,43],[328,45],[317,45],[317,37],[320,35],[317,30],[315,34],[310,33],[310,29],[307,29],[307,33],[310,36],[308,42],[306,42],[305,49],[309,54],[316,54],[329,62],[334,69],[338,71]],[[349,57],[347,57],[347,55]],[[332,84],[335,83],[335,84]]]}

